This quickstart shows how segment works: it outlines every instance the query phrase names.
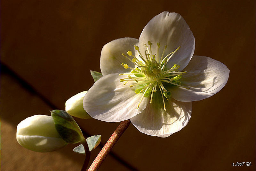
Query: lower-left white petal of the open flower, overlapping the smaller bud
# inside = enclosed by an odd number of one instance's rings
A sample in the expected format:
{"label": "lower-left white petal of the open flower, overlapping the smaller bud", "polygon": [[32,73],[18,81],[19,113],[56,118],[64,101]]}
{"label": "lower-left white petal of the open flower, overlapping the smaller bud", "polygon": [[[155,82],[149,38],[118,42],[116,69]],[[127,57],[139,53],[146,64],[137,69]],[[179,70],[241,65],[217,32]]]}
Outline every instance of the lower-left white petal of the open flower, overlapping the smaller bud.
{"label": "lower-left white petal of the open flower, overlapping the smaller bud", "polygon": [[[106,122],[120,122],[141,113],[148,104],[148,98],[143,97],[139,109],[142,93],[135,94],[135,89],[127,82],[120,82],[125,75],[108,74],[100,78],[84,96],[84,109],[95,119]],[[136,82],[135,82],[136,83]]]}

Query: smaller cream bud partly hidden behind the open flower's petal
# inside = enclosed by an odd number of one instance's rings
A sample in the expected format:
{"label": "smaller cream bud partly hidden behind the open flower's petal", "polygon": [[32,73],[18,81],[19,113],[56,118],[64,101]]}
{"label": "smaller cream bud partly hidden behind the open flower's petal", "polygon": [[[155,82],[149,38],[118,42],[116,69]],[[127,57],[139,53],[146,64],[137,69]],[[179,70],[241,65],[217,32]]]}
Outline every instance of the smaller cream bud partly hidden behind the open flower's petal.
{"label": "smaller cream bud partly hidden behind the open flower's petal", "polygon": [[65,105],[65,110],[69,115],[74,116],[76,118],[89,119],[92,118],[83,108],[83,100],[87,91],[83,91],[81,93],[76,94],[75,96],[70,97]]}

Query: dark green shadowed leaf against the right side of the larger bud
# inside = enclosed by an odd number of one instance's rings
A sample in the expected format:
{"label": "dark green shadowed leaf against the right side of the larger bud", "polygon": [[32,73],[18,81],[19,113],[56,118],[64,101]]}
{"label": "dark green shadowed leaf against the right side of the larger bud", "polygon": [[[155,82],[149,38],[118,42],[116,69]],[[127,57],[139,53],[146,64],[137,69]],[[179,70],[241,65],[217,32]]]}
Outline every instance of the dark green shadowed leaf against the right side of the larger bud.
{"label": "dark green shadowed leaf against the right side of the larger bud", "polygon": [[55,128],[60,137],[69,144],[78,143],[84,140],[83,133],[76,121],[64,110],[50,111]]}

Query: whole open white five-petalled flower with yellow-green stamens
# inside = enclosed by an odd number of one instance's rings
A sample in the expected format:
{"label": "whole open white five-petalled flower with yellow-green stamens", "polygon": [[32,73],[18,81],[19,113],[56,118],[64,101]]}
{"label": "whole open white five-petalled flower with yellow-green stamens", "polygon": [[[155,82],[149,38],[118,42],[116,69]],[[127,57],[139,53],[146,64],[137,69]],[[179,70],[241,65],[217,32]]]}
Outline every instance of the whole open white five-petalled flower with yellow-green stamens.
{"label": "whole open white five-petalled flower with yellow-green stamens", "polygon": [[140,132],[170,136],[188,124],[191,101],[214,95],[228,81],[224,64],[193,56],[194,50],[193,33],[180,14],[162,12],[139,40],[121,38],[103,47],[103,77],[85,95],[84,109],[95,119],[130,119]]}

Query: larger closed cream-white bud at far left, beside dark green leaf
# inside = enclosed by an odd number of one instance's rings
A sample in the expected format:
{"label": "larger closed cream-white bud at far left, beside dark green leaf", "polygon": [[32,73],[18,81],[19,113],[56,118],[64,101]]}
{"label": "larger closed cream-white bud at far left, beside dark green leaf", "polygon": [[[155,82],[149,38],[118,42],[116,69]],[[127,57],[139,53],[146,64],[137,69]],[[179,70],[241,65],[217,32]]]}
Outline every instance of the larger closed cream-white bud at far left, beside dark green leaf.
{"label": "larger closed cream-white bud at far left, beside dark green leaf", "polygon": [[17,126],[18,143],[32,151],[51,152],[67,145],[55,129],[51,116],[34,115]]}

